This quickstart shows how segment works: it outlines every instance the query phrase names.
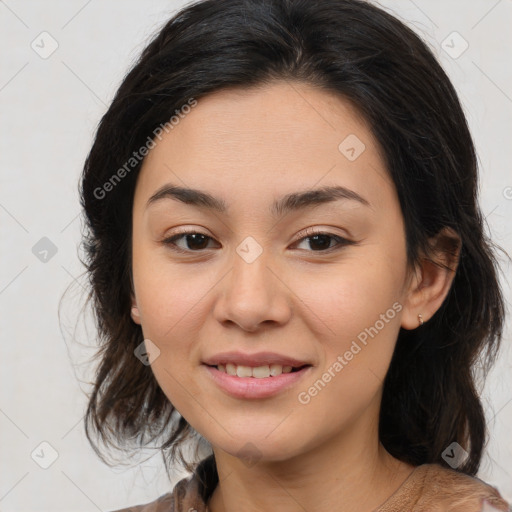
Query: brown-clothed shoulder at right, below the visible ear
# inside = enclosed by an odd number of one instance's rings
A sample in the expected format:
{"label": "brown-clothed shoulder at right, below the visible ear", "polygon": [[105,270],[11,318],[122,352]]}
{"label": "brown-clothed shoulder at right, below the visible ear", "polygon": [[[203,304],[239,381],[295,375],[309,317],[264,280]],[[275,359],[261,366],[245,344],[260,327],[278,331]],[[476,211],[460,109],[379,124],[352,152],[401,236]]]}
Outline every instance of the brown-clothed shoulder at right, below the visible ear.
{"label": "brown-clothed shoulder at right, below the visible ear", "polygon": [[407,506],[411,506],[414,512],[511,510],[510,505],[491,485],[439,464],[418,466],[399,491],[395,493],[396,497],[401,497],[402,501],[408,500]]}

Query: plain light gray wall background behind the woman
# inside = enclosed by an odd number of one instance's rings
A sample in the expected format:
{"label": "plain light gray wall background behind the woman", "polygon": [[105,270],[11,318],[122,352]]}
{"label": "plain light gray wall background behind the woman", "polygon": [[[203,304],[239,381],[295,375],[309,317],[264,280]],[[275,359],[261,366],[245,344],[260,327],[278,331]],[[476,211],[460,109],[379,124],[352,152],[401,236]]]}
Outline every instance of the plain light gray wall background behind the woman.
{"label": "plain light gray wall background behind the woman", "polygon": [[[151,501],[171,488],[158,456],[135,469],[111,469],[88,445],[81,391],[87,386],[77,379],[87,382],[90,374],[82,363],[91,354],[77,343],[90,342],[94,330],[73,333],[73,326],[84,282],[77,258],[77,180],[84,158],[122,77],[181,5],[161,0],[0,0],[3,512],[107,511]],[[512,254],[512,188],[507,188],[512,187],[512,1],[386,0],[381,5],[427,40],[455,83],[481,162],[482,210],[493,239]],[[45,59],[40,54],[51,49],[52,41],[40,36],[43,31],[58,43]],[[453,56],[464,42],[454,31],[469,44],[457,58]],[[42,237],[57,249],[47,262],[32,252]],[[503,270],[509,278],[506,262]],[[61,332],[58,305],[70,285]],[[510,303],[505,279],[503,285]],[[509,501],[510,326],[509,316],[504,350],[483,391],[491,441],[479,473]],[[49,460],[51,450],[38,448],[43,441],[58,453],[48,469],[31,458],[37,449],[39,461]],[[176,473],[174,481],[182,476]]]}

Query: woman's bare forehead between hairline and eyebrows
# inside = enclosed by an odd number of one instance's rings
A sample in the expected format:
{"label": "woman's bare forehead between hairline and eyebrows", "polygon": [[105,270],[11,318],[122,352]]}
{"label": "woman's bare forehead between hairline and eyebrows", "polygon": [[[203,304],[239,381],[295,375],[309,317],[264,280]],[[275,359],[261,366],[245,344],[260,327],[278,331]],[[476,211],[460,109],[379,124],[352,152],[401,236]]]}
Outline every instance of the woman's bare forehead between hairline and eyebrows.
{"label": "woman's bare forehead between hairline and eyebrows", "polygon": [[136,196],[147,200],[172,182],[253,206],[279,192],[328,185],[350,188],[376,206],[396,199],[370,127],[334,93],[276,82],[216,91],[187,112],[155,139]]}

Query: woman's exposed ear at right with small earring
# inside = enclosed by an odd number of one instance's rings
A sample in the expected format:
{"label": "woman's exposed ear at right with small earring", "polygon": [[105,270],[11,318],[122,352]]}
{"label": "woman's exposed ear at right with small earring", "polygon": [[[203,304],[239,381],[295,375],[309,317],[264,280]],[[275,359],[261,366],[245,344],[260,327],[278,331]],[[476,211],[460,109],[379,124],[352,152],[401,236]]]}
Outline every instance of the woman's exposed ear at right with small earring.
{"label": "woman's exposed ear at right with small earring", "polygon": [[422,257],[409,280],[401,326],[416,329],[418,314],[427,322],[441,307],[450,291],[459,263],[461,240],[451,228],[443,228],[430,239],[432,256]]}

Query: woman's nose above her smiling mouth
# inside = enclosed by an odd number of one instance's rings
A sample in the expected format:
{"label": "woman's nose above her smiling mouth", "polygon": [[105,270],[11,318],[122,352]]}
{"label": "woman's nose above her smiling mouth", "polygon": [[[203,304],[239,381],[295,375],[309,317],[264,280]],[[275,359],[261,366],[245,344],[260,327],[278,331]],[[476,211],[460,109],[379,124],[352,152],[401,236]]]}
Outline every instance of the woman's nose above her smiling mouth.
{"label": "woman's nose above her smiling mouth", "polygon": [[249,332],[261,329],[262,324],[286,324],[293,293],[275,267],[265,252],[250,263],[235,254],[231,271],[219,283],[213,310],[217,321]]}

